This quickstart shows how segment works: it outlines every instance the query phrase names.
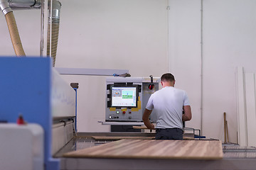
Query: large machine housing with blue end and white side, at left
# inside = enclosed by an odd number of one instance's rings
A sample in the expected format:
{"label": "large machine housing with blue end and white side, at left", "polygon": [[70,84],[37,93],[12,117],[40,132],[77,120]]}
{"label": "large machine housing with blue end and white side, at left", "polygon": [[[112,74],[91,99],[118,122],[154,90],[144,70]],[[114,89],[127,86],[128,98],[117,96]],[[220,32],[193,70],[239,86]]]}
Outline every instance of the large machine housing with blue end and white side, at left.
{"label": "large machine housing with blue end and white side, at left", "polygon": [[27,123],[41,125],[45,169],[60,169],[53,154],[73,137],[74,89],[50,57],[0,57],[0,79],[0,122],[16,123],[23,115]]}

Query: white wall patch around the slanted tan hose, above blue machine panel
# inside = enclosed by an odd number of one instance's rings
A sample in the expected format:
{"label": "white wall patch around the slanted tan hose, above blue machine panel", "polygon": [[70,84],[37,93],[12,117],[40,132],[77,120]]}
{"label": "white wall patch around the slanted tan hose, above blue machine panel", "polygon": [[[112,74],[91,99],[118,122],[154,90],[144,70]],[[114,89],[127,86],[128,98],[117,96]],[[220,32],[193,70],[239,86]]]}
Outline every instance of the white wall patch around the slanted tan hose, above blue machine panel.
{"label": "white wall patch around the slanted tan hose, above blue machine panel", "polygon": [[[21,37],[23,49],[27,56],[40,55],[41,39],[41,10],[14,11],[14,17]],[[0,55],[15,56],[14,47],[11,44],[9,30],[6,24],[4,13],[0,13]]]}

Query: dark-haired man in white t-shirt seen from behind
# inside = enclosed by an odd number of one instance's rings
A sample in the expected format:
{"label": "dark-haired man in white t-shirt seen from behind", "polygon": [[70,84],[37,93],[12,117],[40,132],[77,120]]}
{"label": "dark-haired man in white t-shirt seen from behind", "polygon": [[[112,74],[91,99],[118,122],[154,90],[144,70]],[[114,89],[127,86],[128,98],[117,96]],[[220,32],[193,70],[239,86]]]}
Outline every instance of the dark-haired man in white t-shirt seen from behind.
{"label": "dark-haired man in white t-shirt seen from behind", "polygon": [[156,140],[183,140],[183,121],[191,120],[191,106],[186,91],[174,88],[175,79],[170,73],[161,76],[163,89],[149,98],[142,120],[147,128],[155,129],[149,120],[156,111]]}

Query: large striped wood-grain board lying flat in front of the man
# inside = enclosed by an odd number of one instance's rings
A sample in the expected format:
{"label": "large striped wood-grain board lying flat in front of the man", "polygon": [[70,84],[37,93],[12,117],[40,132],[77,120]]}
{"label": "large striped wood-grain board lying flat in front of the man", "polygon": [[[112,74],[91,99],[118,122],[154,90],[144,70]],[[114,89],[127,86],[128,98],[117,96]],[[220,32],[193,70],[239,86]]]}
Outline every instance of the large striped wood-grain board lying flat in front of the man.
{"label": "large striped wood-grain board lying flat in front of the man", "polygon": [[118,140],[69,152],[63,157],[122,159],[222,159],[216,140]]}

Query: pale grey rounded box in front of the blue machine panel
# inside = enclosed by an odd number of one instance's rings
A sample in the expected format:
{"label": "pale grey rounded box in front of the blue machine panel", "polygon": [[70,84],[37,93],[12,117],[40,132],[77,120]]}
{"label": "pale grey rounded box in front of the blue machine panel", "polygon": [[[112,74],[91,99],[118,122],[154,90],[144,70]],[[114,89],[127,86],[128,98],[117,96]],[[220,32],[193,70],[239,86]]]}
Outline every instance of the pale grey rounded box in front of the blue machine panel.
{"label": "pale grey rounded box in front of the blue machine panel", "polygon": [[43,170],[43,128],[0,124],[0,165],[4,170]]}

